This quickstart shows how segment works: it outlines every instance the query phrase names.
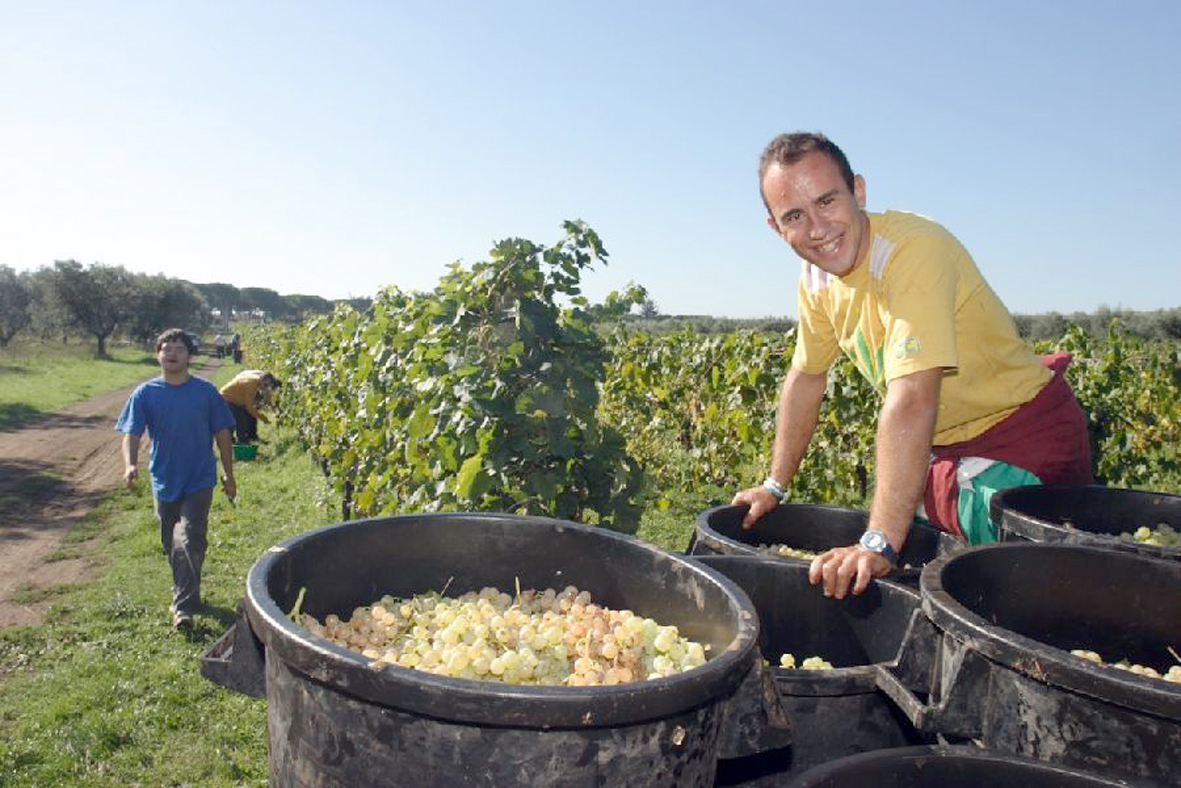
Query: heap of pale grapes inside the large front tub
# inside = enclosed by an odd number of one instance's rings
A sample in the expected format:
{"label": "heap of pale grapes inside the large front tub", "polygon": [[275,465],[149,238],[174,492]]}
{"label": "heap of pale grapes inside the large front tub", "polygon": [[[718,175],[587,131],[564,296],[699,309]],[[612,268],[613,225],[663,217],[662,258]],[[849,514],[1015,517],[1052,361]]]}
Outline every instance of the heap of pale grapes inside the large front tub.
{"label": "heap of pale grapes inside the large front tub", "polygon": [[371,666],[507,684],[592,686],[672,676],[705,664],[707,645],[628,610],[595,605],[567,586],[511,597],[487,587],[458,598],[430,592],[383,597],[347,621],[329,613],[300,623],[361,652]]}

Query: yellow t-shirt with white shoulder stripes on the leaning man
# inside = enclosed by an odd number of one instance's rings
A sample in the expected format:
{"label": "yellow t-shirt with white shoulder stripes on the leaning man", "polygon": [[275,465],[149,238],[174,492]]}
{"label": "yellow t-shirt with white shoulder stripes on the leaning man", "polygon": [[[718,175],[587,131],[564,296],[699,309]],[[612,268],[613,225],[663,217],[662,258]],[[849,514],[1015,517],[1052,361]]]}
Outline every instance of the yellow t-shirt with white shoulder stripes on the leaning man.
{"label": "yellow t-shirt with white shoulder stripes on the leaning man", "polygon": [[925,216],[868,216],[868,255],[848,274],[803,263],[792,366],[818,375],[843,351],[882,395],[894,378],[944,367],[935,445],[973,438],[1032,399],[1050,371],[967,249]]}

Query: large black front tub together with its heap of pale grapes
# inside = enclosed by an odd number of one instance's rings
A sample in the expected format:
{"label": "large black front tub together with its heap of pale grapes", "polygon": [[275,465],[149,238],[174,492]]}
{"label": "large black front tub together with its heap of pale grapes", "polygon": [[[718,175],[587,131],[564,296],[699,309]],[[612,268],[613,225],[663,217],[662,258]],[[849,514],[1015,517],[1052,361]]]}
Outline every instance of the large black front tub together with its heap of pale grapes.
{"label": "large black front tub together with its heap of pale grapes", "polygon": [[273,784],[704,788],[762,670],[725,577],[548,517],[326,526],[268,549],[246,592]]}

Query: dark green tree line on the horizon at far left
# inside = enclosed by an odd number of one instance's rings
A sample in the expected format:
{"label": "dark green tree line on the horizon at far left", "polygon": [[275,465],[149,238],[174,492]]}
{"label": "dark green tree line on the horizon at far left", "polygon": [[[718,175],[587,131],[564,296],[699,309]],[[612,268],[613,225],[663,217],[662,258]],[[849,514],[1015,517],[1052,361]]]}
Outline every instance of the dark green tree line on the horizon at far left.
{"label": "dark green tree line on the horizon at far left", "polygon": [[[368,299],[354,299],[364,308]],[[19,334],[41,340],[84,334],[106,356],[112,338],[151,341],[182,326],[202,333],[230,319],[299,320],[335,307],[319,295],[280,295],[266,287],[194,284],[163,274],[137,274],[123,266],[59,260],[37,271],[0,266],[0,347]]]}

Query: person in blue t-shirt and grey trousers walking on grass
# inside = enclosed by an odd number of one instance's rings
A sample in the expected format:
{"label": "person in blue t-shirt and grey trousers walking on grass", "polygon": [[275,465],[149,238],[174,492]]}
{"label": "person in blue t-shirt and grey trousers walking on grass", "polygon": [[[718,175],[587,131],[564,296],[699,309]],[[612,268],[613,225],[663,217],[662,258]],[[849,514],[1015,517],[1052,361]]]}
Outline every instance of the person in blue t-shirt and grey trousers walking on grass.
{"label": "person in blue t-shirt and grey trousers walking on grass", "polygon": [[189,375],[189,359],[196,347],[180,328],[170,328],[156,339],[158,378],[139,384],[131,393],[115,429],[123,436],[123,478],[131,488],[138,477],[136,462],[144,430],[151,438],[151,491],[159,520],[161,542],[172,568],[172,625],[193,626],[201,607],[201,566],[205,558],[209,506],[217,484],[217,462],[222,462],[222,486],[234,499],[234,454],[230,428],[234,416],[217,389]]}

